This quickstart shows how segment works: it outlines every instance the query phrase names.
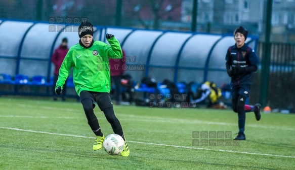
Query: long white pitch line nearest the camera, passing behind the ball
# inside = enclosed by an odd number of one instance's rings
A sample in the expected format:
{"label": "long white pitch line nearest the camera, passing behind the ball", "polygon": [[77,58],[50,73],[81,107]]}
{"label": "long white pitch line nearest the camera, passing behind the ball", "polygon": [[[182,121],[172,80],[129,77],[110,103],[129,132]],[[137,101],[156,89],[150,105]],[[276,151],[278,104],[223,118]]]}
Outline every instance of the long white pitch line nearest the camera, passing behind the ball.
{"label": "long white pitch line nearest the camera, passing behind the ball", "polygon": [[[34,133],[55,134],[55,135],[61,135],[61,136],[66,136],[66,137],[91,138],[91,139],[95,139],[94,137],[85,137],[85,136],[73,135],[73,134],[51,133],[51,132],[45,132],[45,131],[26,130],[26,129],[12,128],[12,127],[0,127],[0,128],[2,128],[2,129],[11,129],[11,130],[19,130],[19,131],[28,131],[28,132],[34,132]],[[130,143],[137,143],[137,144],[145,144],[145,145],[156,145],[156,146],[166,146],[166,147],[175,147],[175,148],[185,148],[185,149],[197,149],[197,150],[218,151],[218,152],[231,152],[231,153],[248,154],[248,155],[261,155],[261,156],[274,156],[274,157],[295,158],[295,156],[286,156],[286,155],[273,155],[273,154],[263,154],[263,153],[239,152],[239,151],[221,150],[221,149],[215,150],[215,149],[207,149],[207,148],[195,148],[195,147],[187,147],[187,146],[155,144],[155,143],[146,143],[146,142],[137,142],[137,141],[128,141],[128,142],[130,142]]]}

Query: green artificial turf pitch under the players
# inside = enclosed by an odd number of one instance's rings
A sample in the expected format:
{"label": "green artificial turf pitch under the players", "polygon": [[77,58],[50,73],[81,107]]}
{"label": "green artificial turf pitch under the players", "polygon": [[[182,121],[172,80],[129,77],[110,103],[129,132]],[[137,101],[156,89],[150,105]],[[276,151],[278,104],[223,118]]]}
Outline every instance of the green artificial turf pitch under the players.
{"label": "green artificial turf pitch under the players", "polygon": [[[230,109],[114,106],[114,111],[129,157],[92,150],[95,135],[76,101],[0,97],[0,169],[294,168],[292,114],[262,113],[256,121],[247,113],[246,141],[235,143],[237,115]],[[113,133],[98,107],[95,113],[104,135]],[[225,132],[231,136],[214,136]],[[230,146],[218,146],[225,140]]]}

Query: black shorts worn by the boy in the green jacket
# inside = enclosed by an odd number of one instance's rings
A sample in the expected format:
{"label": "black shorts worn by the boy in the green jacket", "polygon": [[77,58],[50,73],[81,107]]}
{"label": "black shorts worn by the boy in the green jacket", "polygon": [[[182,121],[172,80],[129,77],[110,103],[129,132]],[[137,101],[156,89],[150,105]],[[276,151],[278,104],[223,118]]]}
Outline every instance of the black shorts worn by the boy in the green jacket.
{"label": "black shorts worn by the boy in the green jacket", "polygon": [[107,92],[94,92],[83,90],[80,92],[80,101],[82,101],[85,98],[92,99],[92,102],[96,101],[101,111],[105,110],[106,108],[113,107],[110,94]]}

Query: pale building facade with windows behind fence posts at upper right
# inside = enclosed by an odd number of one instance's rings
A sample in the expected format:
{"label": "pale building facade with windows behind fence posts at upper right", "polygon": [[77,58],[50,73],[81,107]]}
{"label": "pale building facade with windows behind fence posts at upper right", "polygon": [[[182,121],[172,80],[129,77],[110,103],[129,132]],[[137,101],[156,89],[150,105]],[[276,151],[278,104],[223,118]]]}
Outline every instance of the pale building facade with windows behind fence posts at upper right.
{"label": "pale building facade with windows behind fence posts at upper right", "polygon": [[[182,22],[192,22],[194,0],[184,0]],[[267,0],[198,0],[197,30],[231,33],[243,25],[251,35],[264,38]],[[272,41],[295,42],[295,1],[273,0]]]}

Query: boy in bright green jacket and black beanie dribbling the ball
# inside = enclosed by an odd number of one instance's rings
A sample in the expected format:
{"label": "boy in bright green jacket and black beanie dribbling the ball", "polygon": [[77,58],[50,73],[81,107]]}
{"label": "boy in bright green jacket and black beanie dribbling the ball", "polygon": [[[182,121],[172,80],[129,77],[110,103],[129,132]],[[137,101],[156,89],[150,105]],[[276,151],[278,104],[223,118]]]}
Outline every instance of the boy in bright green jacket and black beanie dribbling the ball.
{"label": "boy in bright green jacket and black beanie dribbling the ball", "polygon": [[114,35],[106,34],[110,45],[93,40],[93,25],[90,22],[82,22],[78,28],[79,43],[73,45],[59,70],[55,92],[60,95],[65,80],[73,67],[73,79],[77,94],[85,111],[88,124],[96,134],[93,150],[100,150],[104,141],[104,135],[100,129],[96,115],[94,114],[94,101],[103,111],[107,121],[111,124],[114,133],[119,134],[125,141],[122,156],[129,156],[130,150],[124,138],[122,126],[115,116],[113,103],[110,98],[110,58],[122,58],[122,49]]}

